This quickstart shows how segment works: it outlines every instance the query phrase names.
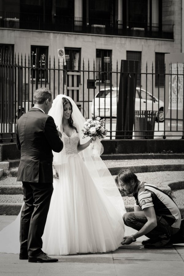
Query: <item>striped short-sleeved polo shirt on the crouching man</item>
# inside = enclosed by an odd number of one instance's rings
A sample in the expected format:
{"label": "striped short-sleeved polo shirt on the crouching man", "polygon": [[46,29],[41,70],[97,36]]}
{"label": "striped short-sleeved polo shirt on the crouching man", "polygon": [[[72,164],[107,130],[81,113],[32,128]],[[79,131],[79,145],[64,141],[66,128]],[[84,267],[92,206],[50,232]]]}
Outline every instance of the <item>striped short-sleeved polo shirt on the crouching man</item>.
{"label": "striped short-sleeved polo shirt on the crouching man", "polygon": [[135,205],[142,210],[154,206],[155,214],[162,216],[174,228],[181,224],[181,213],[174,200],[165,192],[154,185],[140,182],[135,197]]}

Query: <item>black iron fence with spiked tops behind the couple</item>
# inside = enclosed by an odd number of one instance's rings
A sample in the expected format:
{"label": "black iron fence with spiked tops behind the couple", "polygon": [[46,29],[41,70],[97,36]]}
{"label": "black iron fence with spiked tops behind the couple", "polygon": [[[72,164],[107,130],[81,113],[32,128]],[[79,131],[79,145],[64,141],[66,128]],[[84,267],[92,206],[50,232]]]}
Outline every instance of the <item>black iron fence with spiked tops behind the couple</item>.
{"label": "black iron fence with spiked tops behind the couple", "polygon": [[[155,74],[152,65],[151,72],[146,66],[144,72],[138,73],[140,86],[136,87],[133,96],[135,108],[127,114],[134,116],[134,128],[127,136],[128,126],[127,131],[116,129],[120,116],[117,103],[120,78],[131,72],[120,72],[118,63],[113,69],[111,60],[109,71],[100,71],[99,64],[90,66],[84,61],[80,70],[63,69],[58,60],[51,59],[44,63],[44,67],[31,64],[26,56],[14,55],[13,59],[2,56],[0,59],[0,142],[14,140],[17,119],[33,106],[33,93],[43,86],[52,90],[53,98],[58,94],[73,98],[86,119],[104,117],[108,129],[105,139],[184,139],[183,71]],[[100,78],[97,82],[96,76],[102,74],[103,80]],[[135,83],[136,73],[133,75],[131,81]],[[155,75],[158,80],[164,76],[164,87],[155,88]],[[169,91],[166,90],[168,79]]]}

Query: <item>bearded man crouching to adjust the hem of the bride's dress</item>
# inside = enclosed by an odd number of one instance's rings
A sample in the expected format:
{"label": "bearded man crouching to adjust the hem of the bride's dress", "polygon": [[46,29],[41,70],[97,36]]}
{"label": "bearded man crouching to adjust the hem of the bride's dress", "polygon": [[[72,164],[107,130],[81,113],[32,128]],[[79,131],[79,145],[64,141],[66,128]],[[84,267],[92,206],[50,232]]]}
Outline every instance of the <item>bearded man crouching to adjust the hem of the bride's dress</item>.
{"label": "bearded man crouching to adjust the hem of the bride's dress", "polygon": [[125,225],[138,232],[124,237],[121,243],[130,244],[140,236],[144,248],[171,248],[170,236],[176,234],[181,225],[181,213],[173,199],[154,185],[141,182],[132,171],[121,171],[115,178],[118,188],[128,196],[135,197],[134,212],[125,213]]}

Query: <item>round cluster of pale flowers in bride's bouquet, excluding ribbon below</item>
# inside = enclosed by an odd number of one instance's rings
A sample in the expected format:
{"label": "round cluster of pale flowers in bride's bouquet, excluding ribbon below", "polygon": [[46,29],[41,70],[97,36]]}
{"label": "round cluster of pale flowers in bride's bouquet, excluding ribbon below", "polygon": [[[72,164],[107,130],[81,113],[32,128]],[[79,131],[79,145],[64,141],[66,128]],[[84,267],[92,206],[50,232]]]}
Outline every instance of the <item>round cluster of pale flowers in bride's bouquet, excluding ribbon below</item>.
{"label": "round cluster of pale flowers in bride's bouquet, excluding ribbon below", "polygon": [[103,139],[104,136],[107,135],[107,129],[105,129],[105,119],[100,119],[100,117],[96,117],[94,120],[88,119],[84,123],[84,129],[82,129],[82,132],[84,133],[83,138],[85,136],[90,137],[98,137],[99,139]]}

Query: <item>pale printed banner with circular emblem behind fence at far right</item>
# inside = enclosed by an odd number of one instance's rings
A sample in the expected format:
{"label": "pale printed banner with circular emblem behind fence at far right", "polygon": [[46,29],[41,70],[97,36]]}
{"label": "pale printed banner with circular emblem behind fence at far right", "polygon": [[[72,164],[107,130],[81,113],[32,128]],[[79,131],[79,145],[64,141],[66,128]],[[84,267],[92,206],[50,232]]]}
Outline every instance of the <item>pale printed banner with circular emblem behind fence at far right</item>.
{"label": "pale printed banner with circular emblem behind fence at far right", "polygon": [[183,63],[170,63],[169,65],[168,109],[183,110]]}

